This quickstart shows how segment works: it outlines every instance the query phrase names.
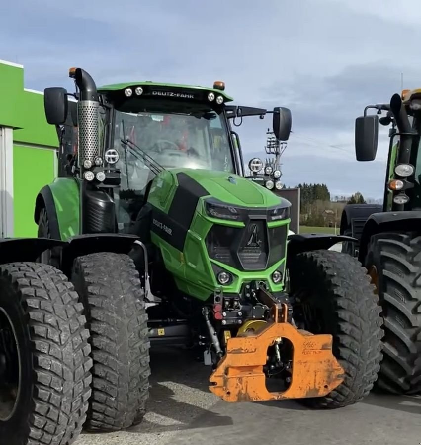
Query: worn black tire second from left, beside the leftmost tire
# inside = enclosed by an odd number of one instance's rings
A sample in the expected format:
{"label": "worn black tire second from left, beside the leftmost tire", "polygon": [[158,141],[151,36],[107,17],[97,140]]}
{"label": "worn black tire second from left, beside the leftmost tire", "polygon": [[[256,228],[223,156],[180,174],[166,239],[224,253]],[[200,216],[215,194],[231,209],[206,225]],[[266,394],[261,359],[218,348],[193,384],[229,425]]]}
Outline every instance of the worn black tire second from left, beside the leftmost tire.
{"label": "worn black tire second from left, beside the leftmost tire", "polygon": [[139,274],[127,255],[79,257],[72,282],[91,334],[93,380],[85,428],[117,431],[140,423],[149,396],[149,337]]}

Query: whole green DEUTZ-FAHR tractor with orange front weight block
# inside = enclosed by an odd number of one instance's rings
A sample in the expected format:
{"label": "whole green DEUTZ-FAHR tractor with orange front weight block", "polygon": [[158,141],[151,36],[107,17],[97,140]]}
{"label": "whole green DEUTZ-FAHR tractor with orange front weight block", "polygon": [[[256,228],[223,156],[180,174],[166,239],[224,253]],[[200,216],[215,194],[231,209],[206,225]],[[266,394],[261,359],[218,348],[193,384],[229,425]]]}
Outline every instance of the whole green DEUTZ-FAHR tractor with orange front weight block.
{"label": "whole green DEUTZ-FAHR tractor with orange front weight block", "polygon": [[[82,423],[141,422],[160,345],[200,354],[229,402],[367,396],[381,360],[375,287],[327,250],[353,238],[288,237],[290,203],[244,177],[231,120],[272,113],[287,140],[290,111],[231,106],[221,82],[97,88],[81,68],[69,75],[75,94],[44,91],[66,165],[37,198],[39,238],[0,243],[2,440],[69,444]],[[19,249],[31,263],[14,263]]]}

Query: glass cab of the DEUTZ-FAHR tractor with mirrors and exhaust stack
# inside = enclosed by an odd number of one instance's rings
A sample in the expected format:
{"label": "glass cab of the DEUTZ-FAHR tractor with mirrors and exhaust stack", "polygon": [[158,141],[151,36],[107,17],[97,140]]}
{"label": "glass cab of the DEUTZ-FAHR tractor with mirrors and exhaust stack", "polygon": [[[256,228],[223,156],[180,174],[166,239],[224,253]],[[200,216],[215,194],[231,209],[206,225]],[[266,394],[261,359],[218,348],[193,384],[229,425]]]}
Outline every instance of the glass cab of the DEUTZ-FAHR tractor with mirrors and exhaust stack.
{"label": "glass cab of the DEUTZ-FAHR tractor with mirrors and exhaust stack", "polygon": [[97,218],[81,218],[81,233],[131,233],[153,179],[164,170],[245,176],[240,140],[232,128],[245,116],[263,119],[272,114],[277,140],[287,140],[291,132],[290,110],[229,105],[233,99],[220,81],[212,88],[154,82],[97,88],[80,68],[71,68],[69,77],[75,80],[76,93],[63,88],[44,91],[47,121],[56,125],[60,136],[59,165],[65,167],[59,177],[73,176],[84,183],[82,212],[83,207],[96,211],[97,205],[90,203],[96,200],[102,211],[115,213],[117,221],[116,227],[89,227],[83,221]]}

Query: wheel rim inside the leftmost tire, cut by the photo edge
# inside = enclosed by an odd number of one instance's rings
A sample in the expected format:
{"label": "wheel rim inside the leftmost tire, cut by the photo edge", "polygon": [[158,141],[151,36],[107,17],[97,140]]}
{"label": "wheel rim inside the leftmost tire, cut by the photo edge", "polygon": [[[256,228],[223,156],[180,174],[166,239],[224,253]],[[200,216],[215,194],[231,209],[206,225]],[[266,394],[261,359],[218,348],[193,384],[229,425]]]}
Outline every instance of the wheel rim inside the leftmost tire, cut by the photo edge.
{"label": "wheel rim inside the leftmost tire, cut by the photo edge", "polygon": [[0,307],[0,421],[16,412],[21,391],[22,367],[16,331],[7,312]]}

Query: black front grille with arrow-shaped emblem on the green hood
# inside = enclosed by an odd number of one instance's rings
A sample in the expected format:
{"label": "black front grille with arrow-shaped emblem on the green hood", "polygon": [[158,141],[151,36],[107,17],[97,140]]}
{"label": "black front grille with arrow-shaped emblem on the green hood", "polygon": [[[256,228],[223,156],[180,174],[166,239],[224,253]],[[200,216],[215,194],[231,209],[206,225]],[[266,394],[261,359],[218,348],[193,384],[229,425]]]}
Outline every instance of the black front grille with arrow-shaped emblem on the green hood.
{"label": "black front grille with arrow-shaped emblem on the green hood", "polygon": [[244,228],[214,225],[206,245],[211,259],[240,270],[264,270],[285,255],[287,226],[267,228],[265,220],[250,220]]}

